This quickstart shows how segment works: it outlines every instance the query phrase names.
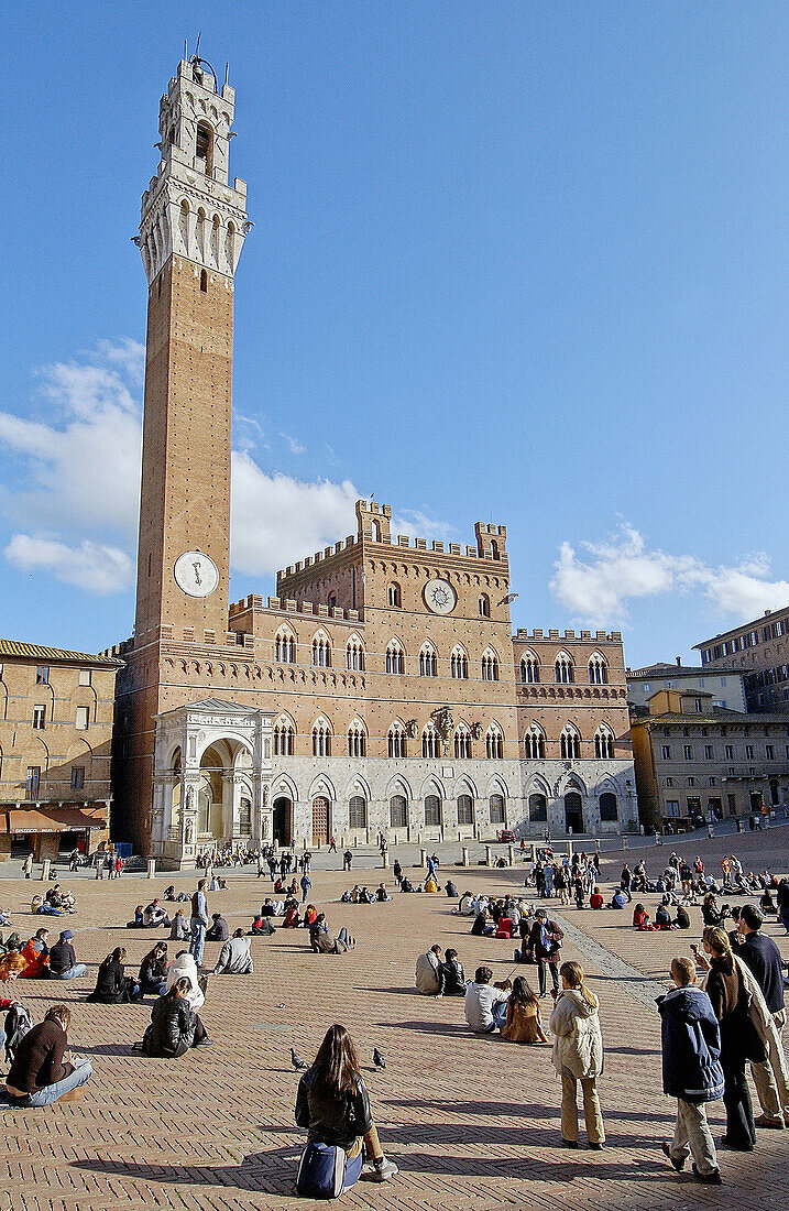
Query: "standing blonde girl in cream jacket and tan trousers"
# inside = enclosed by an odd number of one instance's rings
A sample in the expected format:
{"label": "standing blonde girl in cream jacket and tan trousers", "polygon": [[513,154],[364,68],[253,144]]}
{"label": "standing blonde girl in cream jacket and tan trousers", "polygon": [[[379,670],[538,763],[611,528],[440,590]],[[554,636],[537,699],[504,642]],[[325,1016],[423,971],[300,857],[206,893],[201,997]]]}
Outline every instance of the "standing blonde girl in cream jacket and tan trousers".
{"label": "standing blonde girl in cream jacket and tan trousers", "polygon": [[[578,1147],[577,1083],[583,1094],[583,1114],[589,1148],[605,1143],[597,1078],[603,1072],[603,1037],[598,1017],[598,999],[583,982],[580,963],[559,968],[561,992],[551,1015],[553,1066],[561,1077],[561,1142]],[[554,992],[554,995],[555,992]]]}

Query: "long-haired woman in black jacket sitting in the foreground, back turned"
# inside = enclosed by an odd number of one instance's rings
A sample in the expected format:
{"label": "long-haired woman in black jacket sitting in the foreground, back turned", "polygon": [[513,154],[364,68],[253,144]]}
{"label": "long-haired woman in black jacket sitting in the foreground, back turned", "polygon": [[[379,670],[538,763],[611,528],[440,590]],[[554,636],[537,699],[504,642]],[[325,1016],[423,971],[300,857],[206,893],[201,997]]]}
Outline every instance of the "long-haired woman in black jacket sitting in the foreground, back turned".
{"label": "long-haired woman in black jacket sitting in the foreground, back turned", "polygon": [[397,1165],[384,1155],[356,1049],[344,1026],[329,1027],[312,1067],[299,1081],[295,1120],[307,1129],[299,1194],[336,1198],[358,1181],[364,1152],[373,1163],[372,1181],[385,1182],[397,1172]]}

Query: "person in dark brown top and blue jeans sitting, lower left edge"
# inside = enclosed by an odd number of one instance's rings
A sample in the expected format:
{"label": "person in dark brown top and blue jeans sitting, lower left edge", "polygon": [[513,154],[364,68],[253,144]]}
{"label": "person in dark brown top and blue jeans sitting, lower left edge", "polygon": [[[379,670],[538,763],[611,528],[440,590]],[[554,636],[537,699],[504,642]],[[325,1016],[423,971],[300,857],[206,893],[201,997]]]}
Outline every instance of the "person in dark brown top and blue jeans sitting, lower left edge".
{"label": "person in dark brown top and blue jeans sitting, lower left edge", "polygon": [[88,1060],[68,1050],[70,1021],[68,1005],[51,1005],[44,1021],[22,1035],[5,1081],[11,1106],[38,1108],[69,1094],[69,1101],[81,1096],[74,1091],[91,1079],[92,1068]]}

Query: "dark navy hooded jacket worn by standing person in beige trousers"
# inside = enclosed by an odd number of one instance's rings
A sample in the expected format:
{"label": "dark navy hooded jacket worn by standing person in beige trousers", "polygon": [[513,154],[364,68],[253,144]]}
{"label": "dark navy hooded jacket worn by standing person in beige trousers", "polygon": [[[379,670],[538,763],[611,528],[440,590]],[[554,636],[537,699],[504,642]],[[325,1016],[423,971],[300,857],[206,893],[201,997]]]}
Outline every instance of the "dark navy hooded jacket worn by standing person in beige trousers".
{"label": "dark navy hooded jacket worn by standing person in beige trousers", "polygon": [[720,1027],[706,992],[695,985],[657,998],[663,1043],[663,1092],[684,1102],[713,1102],[724,1092]]}

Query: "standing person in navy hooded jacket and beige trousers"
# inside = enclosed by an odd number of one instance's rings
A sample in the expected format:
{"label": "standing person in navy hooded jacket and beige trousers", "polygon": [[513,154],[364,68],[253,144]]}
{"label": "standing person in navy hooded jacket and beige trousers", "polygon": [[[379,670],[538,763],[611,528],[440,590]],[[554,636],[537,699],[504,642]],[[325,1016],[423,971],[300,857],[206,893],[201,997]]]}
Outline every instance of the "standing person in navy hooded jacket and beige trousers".
{"label": "standing person in navy hooded jacket and beige trousers", "polygon": [[720,1186],[707,1103],[724,1092],[720,1027],[706,992],[696,987],[692,959],[673,959],[675,987],[657,998],[663,1046],[663,1092],[676,1098],[674,1138],[661,1147],[679,1172],[690,1155],[696,1181]]}

